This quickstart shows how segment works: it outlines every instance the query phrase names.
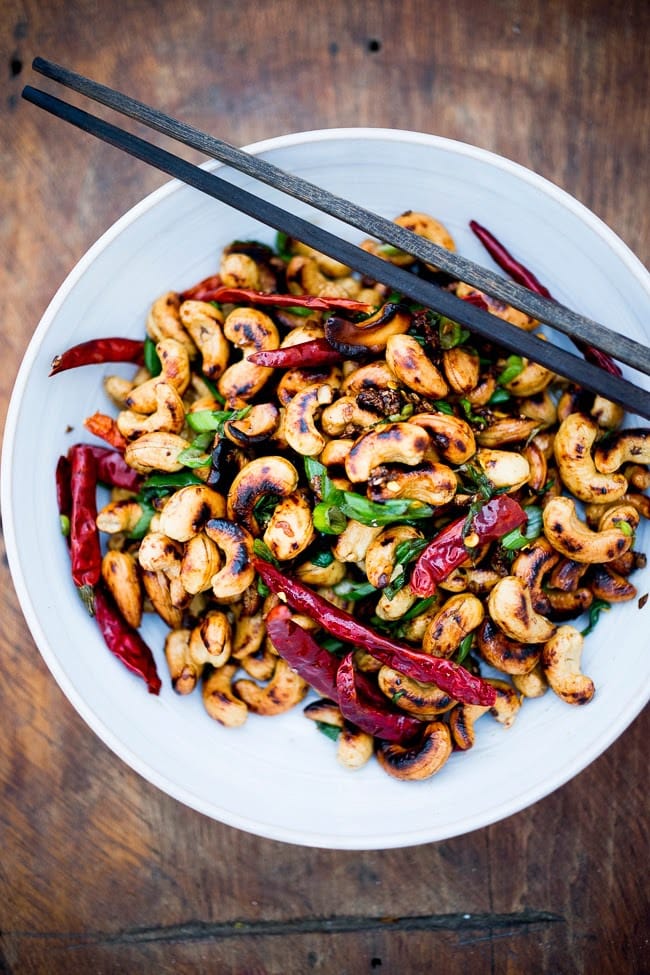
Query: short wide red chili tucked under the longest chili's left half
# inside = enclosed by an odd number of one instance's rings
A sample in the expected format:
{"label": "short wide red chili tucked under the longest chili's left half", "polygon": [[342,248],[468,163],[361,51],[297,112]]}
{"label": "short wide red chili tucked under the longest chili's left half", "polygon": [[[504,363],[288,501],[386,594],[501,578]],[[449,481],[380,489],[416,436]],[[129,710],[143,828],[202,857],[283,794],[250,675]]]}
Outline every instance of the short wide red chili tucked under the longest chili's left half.
{"label": "short wide red chili tucked under the longest chili's left half", "polygon": [[271,643],[280,656],[319,694],[336,700],[338,658],[324,650],[310,633],[294,623],[289,609],[283,604],[274,606],[264,622]]}

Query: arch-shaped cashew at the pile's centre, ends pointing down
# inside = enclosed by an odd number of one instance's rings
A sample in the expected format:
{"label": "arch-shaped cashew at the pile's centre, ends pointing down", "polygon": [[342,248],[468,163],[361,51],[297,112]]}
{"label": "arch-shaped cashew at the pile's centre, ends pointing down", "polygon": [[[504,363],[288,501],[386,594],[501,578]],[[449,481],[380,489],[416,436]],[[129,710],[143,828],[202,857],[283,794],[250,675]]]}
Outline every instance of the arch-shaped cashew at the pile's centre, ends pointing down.
{"label": "arch-shaped cashew at the pile's centre, ends pointing down", "polygon": [[429,447],[429,435],[410,423],[389,423],[369,430],[355,441],[345,462],[345,472],[353,483],[367,481],[380,464],[391,462],[413,467]]}

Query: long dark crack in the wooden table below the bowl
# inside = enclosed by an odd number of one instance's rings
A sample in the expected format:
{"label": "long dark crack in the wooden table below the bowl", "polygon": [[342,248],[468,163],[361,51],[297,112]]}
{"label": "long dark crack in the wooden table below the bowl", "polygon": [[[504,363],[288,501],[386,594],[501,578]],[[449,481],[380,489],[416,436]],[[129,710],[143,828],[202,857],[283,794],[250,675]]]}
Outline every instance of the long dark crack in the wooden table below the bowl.
{"label": "long dark crack in the wooden table below the bowl", "polygon": [[187,921],[182,924],[124,928],[115,933],[4,931],[1,938],[34,938],[59,940],[67,948],[86,945],[128,945],[154,942],[218,941],[242,937],[289,937],[303,934],[354,934],[367,931],[482,931],[501,936],[508,931],[527,929],[532,925],[565,923],[561,914],[552,911],[524,910],[508,914],[423,914],[406,917],[357,917],[342,915],[329,918],[296,918],[286,921]]}

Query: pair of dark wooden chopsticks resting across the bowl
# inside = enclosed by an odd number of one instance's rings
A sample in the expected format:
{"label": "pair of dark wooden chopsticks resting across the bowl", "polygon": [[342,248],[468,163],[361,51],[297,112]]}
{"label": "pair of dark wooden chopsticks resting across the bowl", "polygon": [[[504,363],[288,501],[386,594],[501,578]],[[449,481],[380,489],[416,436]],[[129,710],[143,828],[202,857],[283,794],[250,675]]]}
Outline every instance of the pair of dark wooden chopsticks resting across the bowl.
{"label": "pair of dark wooden chopsticks resting across the bowl", "polygon": [[[499,298],[541,322],[582,343],[650,375],[650,350],[626,336],[534,294],[519,284],[493,274],[486,268],[417,236],[404,227],[342,199],[256,156],[236,149],[192,126],[179,122],[142,102],[85,78],[60,65],[36,58],[35,71],[118,113],[144,123],[172,139],[264,182],[345,224],[382,242],[392,244],[457,280]],[[472,332],[493,341],[509,352],[525,356],[579,386],[619,403],[631,413],[650,419],[650,393],[626,379],[612,375],[550,342],[540,341],[509,322],[464,302],[436,284],[396,267],[360,247],[318,227],[296,214],[258,197],[216,174],[135,136],[103,119],[90,115],[39,89],[27,86],[23,98],[52,115],[69,122],[104,142],[206,193],[289,237],[301,240],[361,274],[406,295],[434,311],[459,322]]]}

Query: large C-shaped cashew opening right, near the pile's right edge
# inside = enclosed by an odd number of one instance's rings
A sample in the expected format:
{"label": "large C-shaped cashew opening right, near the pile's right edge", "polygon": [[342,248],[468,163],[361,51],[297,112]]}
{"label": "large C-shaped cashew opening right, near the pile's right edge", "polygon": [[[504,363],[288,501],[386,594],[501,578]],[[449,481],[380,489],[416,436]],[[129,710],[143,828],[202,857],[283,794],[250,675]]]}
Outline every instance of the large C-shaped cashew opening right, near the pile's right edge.
{"label": "large C-shaped cashew opening right, near the pile's right edge", "polygon": [[601,474],[596,470],[591,447],[598,436],[598,424],[583,413],[570,413],[555,434],[553,449],[560,477],[581,501],[607,504],[627,491],[622,474]]}

